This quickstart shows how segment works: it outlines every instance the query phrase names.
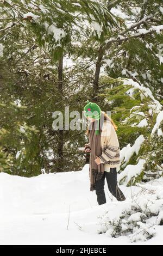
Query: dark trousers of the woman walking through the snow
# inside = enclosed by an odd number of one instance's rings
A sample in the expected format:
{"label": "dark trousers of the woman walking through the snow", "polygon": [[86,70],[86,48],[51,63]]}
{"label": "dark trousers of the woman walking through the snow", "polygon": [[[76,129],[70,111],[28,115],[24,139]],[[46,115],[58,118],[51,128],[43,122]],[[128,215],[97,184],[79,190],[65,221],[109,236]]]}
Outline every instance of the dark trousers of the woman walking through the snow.
{"label": "dark trousers of the woman walking through the snow", "polygon": [[110,168],[110,172],[104,172],[102,179],[96,181],[96,195],[98,204],[105,204],[106,197],[104,192],[104,184],[106,181],[108,183],[108,188],[110,193],[118,200],[124,201],[126,198],[120,188],[117,186],[117,170],[115,168]]}

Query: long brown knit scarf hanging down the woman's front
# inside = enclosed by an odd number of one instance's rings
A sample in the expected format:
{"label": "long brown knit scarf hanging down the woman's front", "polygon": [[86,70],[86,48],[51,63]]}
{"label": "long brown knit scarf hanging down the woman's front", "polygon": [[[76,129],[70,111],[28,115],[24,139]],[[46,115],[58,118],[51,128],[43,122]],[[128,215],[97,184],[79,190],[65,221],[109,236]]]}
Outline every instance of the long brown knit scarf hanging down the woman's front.
{"label": "long brown knit scarf hanging down the woman's front", "polygon": [[[102,120],[104,120],[104,119],[102,119]],[[90,122],[90,124],[88,126],[88,128],[89,128],[89,143],[90,143],[90,148],[91,148],[90,167],[89,167],[90,191],[96,190],[95,182],[96,182],[96,180],[100,180],[104,174],[104,164],[103,163],[97,164],[95,162],[96,156],[102,155],[101,127],[99,129],[99,134],[97,135],[96,131],[95,131],[95,121]]]}

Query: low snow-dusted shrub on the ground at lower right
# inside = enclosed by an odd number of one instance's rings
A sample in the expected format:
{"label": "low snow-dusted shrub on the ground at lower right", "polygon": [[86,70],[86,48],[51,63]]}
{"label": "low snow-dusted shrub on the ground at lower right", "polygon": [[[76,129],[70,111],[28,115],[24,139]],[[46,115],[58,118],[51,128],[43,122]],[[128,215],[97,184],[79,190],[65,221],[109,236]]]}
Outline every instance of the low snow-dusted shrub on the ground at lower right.
{"label": "low snow-dusted shrub on the ground at lower right", "polygon": [[147,241],[155,236],[156,225],[162,225],[162,187],[142,186],[134,200],[107,205],[107,208],[98,217],[99,234],[126,236],[130,242]]}

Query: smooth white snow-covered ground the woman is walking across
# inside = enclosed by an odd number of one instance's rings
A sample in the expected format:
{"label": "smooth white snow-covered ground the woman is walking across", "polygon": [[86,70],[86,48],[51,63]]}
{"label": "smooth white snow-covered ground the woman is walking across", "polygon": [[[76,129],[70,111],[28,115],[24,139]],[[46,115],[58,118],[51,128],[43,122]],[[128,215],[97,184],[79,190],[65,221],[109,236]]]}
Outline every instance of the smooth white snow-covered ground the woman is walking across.
{"label": "smooth white snow-covered ground the woman is walking across", "polygon": [[[148,184],[162,186],[163,190],[163,178]],[[120,187],[126,201],[112,198],[105,181],[107,202],[98,205],[96,192],[89,191],[89,164],[78,172],[42,174],[34,178],[0,173],[0,244],[129,245],[127,236],[113,238],[98,234],[99,216],[109,209],[114,214],[114,209],[139,197],[140,187]],[[155,225],[155,231],[152,239],[136,244],[163,244],[163,226]]]}

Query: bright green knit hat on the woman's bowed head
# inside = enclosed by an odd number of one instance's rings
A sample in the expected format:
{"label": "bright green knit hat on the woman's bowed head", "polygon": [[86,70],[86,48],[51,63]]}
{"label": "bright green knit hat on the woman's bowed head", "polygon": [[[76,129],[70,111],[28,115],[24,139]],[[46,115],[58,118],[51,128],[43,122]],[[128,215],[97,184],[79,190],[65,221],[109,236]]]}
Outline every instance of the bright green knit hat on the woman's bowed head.
{"label": "bright green knit hat on the woman's bowed head", "polygon": [[91,117],[97,120],[98,125],[97,125],[97,130],[95,131],[96,135],[99,134],[99,119],[101,117],[101,113],[102,113],[101,108],[96,103],[93,103],[87,100],[87,104],[84,107],[84,115],[85,117]]}

